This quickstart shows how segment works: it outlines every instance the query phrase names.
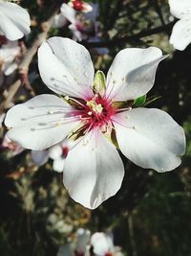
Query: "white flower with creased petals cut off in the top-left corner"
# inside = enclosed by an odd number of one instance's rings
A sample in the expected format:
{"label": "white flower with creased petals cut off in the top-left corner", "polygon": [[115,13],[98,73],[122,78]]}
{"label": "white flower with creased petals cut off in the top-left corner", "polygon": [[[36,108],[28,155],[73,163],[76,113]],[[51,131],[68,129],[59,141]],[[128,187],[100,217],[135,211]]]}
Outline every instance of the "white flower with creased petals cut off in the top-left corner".
{"label": "white flower with creased petals cut off in the top-left corner", "polygon": [[30,33],[30,15],[22,7],[0,0],[0,34],[17,40]]}

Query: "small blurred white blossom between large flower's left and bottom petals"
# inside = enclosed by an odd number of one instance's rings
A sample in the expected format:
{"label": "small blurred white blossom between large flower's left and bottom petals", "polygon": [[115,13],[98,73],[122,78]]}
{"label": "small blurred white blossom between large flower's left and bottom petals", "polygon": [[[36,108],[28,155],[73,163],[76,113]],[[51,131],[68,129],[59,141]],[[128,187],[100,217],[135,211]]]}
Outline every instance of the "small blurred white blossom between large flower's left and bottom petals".
{"label": "small blurred white blossom between large flower's left and bottom petals", "polygon": [[45,151],[32,151],[32,161],[36,165],[41,166],[51,158],[53,159],[53,170],[55,172],[62,173],[68,151],[68,145],[63,141]]}

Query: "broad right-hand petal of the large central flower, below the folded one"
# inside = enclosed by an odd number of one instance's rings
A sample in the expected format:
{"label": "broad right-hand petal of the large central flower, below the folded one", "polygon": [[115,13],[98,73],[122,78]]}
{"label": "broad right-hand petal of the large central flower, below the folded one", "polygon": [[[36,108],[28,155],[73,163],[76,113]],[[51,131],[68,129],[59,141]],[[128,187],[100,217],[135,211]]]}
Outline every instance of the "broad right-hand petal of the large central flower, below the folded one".
{"label": "broad right-hand petal of the large central flower, below the folded one", "polygon": [[185,136],[167,113],[155,108],[135,108],[117,114],[114,119],[120,151],[132,162],[158,172],[180,165]]}

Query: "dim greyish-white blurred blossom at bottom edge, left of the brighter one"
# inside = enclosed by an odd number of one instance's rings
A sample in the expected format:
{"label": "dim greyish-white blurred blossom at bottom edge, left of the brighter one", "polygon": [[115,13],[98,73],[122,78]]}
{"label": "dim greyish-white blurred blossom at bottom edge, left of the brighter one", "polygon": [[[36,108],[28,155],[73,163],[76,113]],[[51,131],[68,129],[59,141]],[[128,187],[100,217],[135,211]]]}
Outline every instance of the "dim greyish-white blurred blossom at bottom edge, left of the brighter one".
{"label": "dim greyish-white blurred blossom at bottom edge, left of the brighter one", "polygon": [[90,256],[90,237],[90,230],[78,228],[75,233],[75,241],[60,246],[57,256]]}

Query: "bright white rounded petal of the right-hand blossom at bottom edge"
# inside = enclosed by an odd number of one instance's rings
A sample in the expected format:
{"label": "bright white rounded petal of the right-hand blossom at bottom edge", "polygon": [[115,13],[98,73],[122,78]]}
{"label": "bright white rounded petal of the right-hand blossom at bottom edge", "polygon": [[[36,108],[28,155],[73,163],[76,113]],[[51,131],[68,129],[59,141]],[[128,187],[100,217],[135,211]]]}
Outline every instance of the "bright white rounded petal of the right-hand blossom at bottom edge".
{"label": "bright white rounded petal of the right-hand blossom at bottom edge", "polygon": [[99,256],[105,256],[110,247],[108,244],[107,236],[102,232],[96,232],[91,238],[94,253]]}

